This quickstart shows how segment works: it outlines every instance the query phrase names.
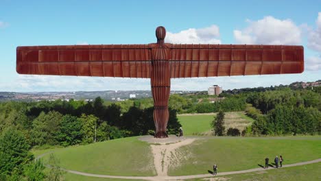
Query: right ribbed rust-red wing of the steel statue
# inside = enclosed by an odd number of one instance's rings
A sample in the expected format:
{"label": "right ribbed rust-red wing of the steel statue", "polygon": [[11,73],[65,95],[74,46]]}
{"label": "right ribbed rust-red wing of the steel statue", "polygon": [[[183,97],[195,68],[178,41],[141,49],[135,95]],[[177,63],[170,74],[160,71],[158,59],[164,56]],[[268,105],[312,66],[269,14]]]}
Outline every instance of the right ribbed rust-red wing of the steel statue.
{"label": "right ribbed rust-red wing of the steel statue", "polygon": [[304,49],[286,45],[171,45],[171,77],[302,73]]}

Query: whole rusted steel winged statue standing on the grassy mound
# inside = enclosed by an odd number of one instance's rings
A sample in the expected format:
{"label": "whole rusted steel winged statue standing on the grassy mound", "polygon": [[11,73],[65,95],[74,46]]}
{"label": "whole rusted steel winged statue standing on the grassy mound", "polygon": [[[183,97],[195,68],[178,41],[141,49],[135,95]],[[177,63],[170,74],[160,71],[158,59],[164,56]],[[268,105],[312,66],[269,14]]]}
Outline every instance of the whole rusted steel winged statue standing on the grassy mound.
{"label": "whole rusted steel winged statue standing on the grassy mound", "polygon": [[302,46],[70,45],[17,47],[16,71],[37,75],[150,78],[156,138],[165,138],[171,78],[302,73]]}

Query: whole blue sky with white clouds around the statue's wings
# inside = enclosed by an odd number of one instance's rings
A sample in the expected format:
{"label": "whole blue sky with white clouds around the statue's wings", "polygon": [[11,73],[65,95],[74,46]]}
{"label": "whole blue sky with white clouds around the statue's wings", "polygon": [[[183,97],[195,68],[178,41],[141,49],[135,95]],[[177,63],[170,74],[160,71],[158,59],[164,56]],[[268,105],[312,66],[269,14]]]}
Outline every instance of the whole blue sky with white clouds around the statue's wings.
{"label": "whole blue sky with white clouds around the statue's wings", "polygon": [[10,1],[0,0],[0,91],[150,90],[150,80],[18,75],[21,45],[154,43],[285,44],[305,47],[296,75],[172,80],[172,90],[289,84],[321,79],[321,1]]}

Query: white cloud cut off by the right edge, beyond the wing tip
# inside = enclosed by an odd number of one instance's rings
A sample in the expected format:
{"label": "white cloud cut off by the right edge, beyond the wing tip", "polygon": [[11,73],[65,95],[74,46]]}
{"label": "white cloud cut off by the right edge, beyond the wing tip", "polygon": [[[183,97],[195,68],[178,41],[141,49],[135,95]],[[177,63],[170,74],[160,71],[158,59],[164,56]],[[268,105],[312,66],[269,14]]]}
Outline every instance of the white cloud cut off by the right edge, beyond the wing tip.
{"label": "white cloud cut off by the right edge, beyond the wing tip", "polygon": [[316,29],[309,31],[308,47],[316,51],[321,51],[321,12],[318,13]]}

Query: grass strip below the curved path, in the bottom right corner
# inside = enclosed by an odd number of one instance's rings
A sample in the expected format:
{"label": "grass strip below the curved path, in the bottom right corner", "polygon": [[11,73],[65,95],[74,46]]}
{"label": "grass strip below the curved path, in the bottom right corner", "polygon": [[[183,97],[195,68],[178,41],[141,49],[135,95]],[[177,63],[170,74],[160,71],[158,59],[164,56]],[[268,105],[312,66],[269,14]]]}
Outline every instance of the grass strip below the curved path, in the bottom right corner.
{"label": "grass strip below the curved path, in the bottom right corner", "polygon": [[[230,176],[220,176],[217,180],[287,180],[287,181],[297,181],[297,180],[321,180],[321,162],[313,163],[309,165],[302,165],[297,167],[289,167],[283,169],[268,169],[265,171],[252,172],[252,173],[242,173]],[[193,180],[204,180],[193,179]]]}

